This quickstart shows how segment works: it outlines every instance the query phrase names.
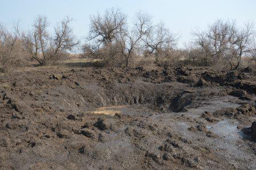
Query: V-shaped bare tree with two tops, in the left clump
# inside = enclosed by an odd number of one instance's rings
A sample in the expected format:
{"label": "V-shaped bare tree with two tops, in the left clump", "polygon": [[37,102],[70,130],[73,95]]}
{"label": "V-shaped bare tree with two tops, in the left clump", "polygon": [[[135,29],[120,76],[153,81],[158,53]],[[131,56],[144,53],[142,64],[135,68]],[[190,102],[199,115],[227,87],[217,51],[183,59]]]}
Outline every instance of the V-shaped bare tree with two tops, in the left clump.
{"label": "V-shaped bare tree with two tops, in the left clump", "polygon": [[22,34],[23,43],[31,58],[39,65],[54,63],[66,50],[72,50],[78,44],[70,27],[72,19],[65,18],[55,27],[53,36],[47,31],[49,22],[46,17],[39,16],[33,24],[33,31]]}

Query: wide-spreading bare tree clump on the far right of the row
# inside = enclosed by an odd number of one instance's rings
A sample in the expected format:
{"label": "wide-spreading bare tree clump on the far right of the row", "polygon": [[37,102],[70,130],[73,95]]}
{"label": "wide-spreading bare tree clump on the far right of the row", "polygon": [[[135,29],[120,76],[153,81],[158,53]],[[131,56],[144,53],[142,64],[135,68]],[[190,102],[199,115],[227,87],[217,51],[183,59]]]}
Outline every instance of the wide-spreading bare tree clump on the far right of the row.
{"label": "wide-spreading bare tree clump on the far right of the row", "polygon": [[252,24],[239,29],[235,21],[217,20],[206,31],[195,31],[195,44],[202,50],[206,62],[219,63],[222,60],[235,70],[241,58],[251,50],[254,35]]}

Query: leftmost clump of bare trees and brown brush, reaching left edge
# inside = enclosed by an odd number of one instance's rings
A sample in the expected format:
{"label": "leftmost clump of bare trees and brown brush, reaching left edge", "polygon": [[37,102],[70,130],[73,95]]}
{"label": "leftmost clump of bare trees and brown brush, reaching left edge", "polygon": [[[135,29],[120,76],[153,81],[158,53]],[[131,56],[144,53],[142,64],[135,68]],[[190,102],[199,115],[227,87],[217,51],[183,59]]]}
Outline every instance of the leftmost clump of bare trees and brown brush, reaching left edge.
{"label": "leftmost clump of bare trees and brown brush, reaching left edge", "polygon": [[71,21],[68,17],[62,19],[53,35],[47,30],[49,22],[43,16],[35,19],[30,31],[22,33],[18,24],[7,29],[0,23],[0,70],[10,71],[33,60],[39,66],[56,63],[78,44],[70,27]]}

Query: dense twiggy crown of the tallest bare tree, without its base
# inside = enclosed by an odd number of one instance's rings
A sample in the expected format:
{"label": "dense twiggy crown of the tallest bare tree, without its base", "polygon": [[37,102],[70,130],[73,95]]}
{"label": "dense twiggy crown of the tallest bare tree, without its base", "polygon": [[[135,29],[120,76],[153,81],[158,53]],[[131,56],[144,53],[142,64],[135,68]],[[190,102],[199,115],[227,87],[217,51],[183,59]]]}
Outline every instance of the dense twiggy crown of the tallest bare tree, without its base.
{"label": "dense twiggy crown of the tallest bare tree, without its base", "polygon": [[120,10],[106,10],[103,16],[97,14],[91,17],[88,40],[94,41],[98,47],[115,43],[125,25],[126,16]]}

